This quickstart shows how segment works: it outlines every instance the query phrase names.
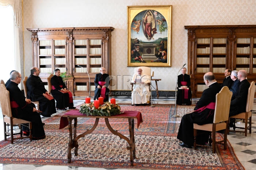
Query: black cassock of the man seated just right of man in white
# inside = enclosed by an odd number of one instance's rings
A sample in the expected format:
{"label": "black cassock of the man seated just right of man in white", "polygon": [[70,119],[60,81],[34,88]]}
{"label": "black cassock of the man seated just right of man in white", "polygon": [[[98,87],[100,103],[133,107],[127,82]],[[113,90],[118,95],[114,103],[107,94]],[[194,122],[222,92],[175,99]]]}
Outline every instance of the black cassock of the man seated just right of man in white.
{"label": "black cassock of the man seated just right of man in white", "polygon": [[[182,81],[185,81],[187,82],[187,87],[189,88],[188,89],[188,98],[185,99],[184,98],[184,92],[185,90],[184,89],[179,89],[182,85],[181,85],[181,82]],[[177,100],[176,100],[176,103],[177,104],[187,104],[187,105],[191,105],[191,96],[192,96],[192,92],[191,92],[191,88],[190,88],[190,76],[188,74],[180,74],[178,75],[178,79],[177,79],[177,84],[178,84],[178,92],[177,92]]]}

